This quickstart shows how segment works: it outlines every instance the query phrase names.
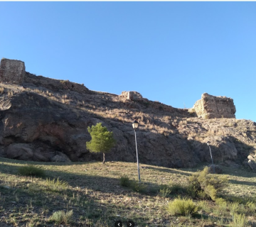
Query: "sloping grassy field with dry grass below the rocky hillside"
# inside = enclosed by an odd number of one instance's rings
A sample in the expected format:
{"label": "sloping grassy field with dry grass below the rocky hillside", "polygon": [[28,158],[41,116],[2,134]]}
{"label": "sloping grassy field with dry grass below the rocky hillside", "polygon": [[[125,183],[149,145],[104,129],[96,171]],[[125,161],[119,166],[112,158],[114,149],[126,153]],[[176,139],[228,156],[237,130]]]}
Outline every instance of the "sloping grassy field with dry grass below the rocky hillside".
{"label": "sloping grassy field with dry grass below the rocky hillside", "polygon": [[[21,175],[33,165],[44,177]],[[142,184],[123,187],[126,175],[137,181],[137,164],[129,162],[25,162],[0,158],[0,226],[256,226],[256,174],[222,167],[228,187],[225,201],[193,199],[196,214],[171,215],[168,204],[183,192],[194,169],[140,165]],[[163,184],[179,185],[163,192]],[[174,187],[173,187],[174,189]]]}

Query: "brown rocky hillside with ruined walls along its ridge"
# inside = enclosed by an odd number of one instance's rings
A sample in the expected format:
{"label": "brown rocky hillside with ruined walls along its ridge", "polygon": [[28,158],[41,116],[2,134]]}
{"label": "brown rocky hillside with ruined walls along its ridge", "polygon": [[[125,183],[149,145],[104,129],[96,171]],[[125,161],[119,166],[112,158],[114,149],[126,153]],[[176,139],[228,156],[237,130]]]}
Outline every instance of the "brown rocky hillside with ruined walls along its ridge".
{"label": "brown rocky hillside with ruined walls along its ridge", "polygon": [[[149,101],[138,92],[94,92],[83,84],[26,72],[24,62],[0,65],[0,156],[35,161],[100,160],[85,147],[87,127],[102,122],[117,145],[107,161],[136,161],[132,122],[138,118],[142,163],[193,167],[214,162],[255,165],[256,123],[235,119],[233,99],[203,94],[192,109]],[[248,155],[250,155],[248,157]],[[248,162],[248,158],[249,161]],[[248,165],[248,166],[249,166]]]}

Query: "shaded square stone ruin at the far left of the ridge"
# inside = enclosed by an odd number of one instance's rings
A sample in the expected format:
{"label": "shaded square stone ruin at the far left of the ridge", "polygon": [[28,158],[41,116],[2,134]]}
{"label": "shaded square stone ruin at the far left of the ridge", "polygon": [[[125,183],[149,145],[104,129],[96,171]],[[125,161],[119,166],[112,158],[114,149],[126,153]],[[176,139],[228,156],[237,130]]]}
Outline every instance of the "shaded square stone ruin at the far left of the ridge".
{"label": "shaded square stone ruin at the far left of the ridge", "polygon": [[25,64],[19,60],[3,58],[0,64],[0,82],[22,84],[25,77]]}

